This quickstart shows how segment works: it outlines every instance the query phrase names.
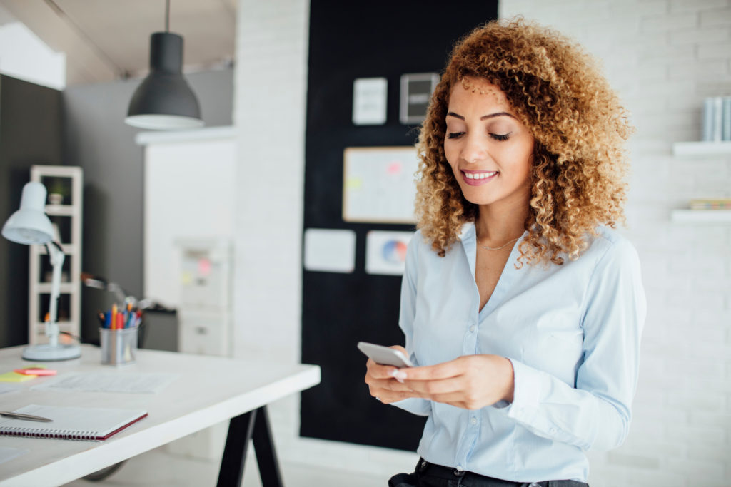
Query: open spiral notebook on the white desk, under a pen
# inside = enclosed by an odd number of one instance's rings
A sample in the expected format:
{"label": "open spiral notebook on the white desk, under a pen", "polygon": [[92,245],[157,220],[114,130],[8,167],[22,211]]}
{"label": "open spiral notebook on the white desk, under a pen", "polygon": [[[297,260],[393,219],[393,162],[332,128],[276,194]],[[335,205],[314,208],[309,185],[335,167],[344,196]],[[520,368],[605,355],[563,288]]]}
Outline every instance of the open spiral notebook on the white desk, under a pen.
{"label": "open spiral notebook on the white desk, under a pen", "polygon": [[0,416],[0,434],[58,440],[102,441],[147,417],[142,410],[103,407],[39,406],[30,404],[13,413],[31,414],[50,423]]}

